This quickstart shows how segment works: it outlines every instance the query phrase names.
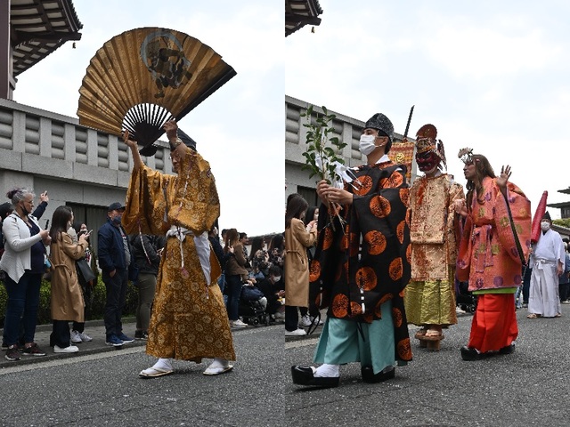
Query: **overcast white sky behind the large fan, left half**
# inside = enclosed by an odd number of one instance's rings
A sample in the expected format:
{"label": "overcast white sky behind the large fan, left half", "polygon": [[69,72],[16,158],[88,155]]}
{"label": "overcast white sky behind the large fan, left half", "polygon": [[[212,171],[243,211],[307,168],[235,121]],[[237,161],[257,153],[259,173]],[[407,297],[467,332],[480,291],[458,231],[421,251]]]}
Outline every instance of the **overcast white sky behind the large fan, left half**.
{"label": "overcast white sky behind the large fan, left half", "polygon": [[[85,68],[102,45],[129,29],[163,27],[208,44],[237,76],[179,125],[198,143],[216,176],[221,228],[249,236],[284,227],[284,12],[277,0],[73,0],[83,24],[18,78],[13,101],[77,118]],[[279,214],[272,214],[275,209]]]}

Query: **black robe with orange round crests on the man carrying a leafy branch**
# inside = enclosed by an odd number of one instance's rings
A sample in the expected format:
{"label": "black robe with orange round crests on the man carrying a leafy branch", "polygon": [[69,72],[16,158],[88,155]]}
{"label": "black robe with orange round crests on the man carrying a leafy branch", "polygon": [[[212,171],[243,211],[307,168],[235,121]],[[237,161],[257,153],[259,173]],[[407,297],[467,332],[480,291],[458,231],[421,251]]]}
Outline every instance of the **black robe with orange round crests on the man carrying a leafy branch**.
{"label": "black robe with orange round crests on the man carrying a leafy branch", "polygon": [[[392,301],[395,359],[411,360],[403,291],[411,276],[409,185],[404,165],[363,165],[345,189],[354,194],[338,217],[326,205],[319,214],[319,240],[311,263],[311,298],[327,316],[371,323]],[[363,300],[362,300],[363,297]],[[362,302],[364,312],[362,313]]]}

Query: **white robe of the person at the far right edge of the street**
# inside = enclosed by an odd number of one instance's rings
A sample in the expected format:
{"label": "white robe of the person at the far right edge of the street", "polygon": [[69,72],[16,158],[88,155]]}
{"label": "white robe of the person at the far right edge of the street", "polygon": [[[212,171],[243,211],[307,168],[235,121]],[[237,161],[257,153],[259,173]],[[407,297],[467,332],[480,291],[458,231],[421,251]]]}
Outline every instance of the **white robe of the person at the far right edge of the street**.
{"label": "white robe of the person at the far right edge of the street", "polygon": [[540,314],[544,318],[560,314],[557,266],[561,262],[564,270],[565,261],[564,243],[560,235],[553,230],[542,233],[530,258],[533,268],[528,295],[530,313]]}

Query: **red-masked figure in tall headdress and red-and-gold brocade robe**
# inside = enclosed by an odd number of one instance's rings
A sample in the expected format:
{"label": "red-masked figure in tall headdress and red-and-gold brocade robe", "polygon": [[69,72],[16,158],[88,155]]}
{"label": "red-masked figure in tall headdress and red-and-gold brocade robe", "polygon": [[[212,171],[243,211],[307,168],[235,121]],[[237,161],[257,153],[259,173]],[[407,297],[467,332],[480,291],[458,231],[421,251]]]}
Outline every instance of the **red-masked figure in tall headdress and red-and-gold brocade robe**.
{"label": "red-masked figure in tall headdress and red-and-gold brocade robe", "polygon": [[442,328],[457,323],[455,200],[465,196],[463,187],[442,173],[444,143],[436,137],[434,125],[423,125],[416,134],[416,162],[424,175],[410,190],[411,282],[403,301],[408,322],[422,326],[415,335],[421,345],[434,341],[428,347],[439,350]]}

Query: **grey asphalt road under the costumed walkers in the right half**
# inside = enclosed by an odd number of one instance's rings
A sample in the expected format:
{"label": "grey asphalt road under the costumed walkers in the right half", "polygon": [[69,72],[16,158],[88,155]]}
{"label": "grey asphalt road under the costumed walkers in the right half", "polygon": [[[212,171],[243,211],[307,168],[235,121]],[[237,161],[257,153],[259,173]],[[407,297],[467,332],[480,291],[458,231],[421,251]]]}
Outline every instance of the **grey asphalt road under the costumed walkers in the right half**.
{"label": "grey asphalt road under the costumed walkers in the right half", "polygon": [[[568,426],[570,425],[570,305],[561,318],[526,318],[517,310],[517,350],[507,356],[467,362],[471,315],[444,331],[439,352],[420,349],[397,367],[395,379],[362,383],[360,366],[340,368],[336,389],[285,383],[289,425],[362,426]],[[410,326],[411,336],[418,330]],[[285,343],[285,365],[310,365],[316,338]]]}

